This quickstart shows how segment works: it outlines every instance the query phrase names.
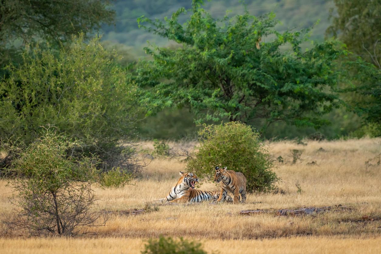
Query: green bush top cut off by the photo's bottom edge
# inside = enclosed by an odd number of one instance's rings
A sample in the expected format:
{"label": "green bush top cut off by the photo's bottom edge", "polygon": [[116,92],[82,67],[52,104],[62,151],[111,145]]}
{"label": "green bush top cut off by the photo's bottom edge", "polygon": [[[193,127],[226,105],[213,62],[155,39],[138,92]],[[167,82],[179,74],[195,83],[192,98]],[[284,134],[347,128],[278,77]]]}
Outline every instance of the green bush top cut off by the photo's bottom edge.
{"label": "green bush top cut off by the photo's bottom edge", "polygon": [[206,254],[201,243],[187,241],[180,237],[178,241],[160,236],[159,239],[149,239],[144,246],[143,254]]}

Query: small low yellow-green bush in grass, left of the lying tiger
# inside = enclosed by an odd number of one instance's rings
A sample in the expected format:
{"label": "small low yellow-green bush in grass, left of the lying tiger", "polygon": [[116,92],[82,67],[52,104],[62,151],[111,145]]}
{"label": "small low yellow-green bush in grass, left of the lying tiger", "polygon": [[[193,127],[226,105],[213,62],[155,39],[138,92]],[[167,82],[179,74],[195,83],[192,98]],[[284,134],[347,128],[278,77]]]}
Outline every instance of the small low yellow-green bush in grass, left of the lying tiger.
{"label": "small low yellow-green bush in grass, left of the lying tiger", "polygon": [[119,167],[113,168],[107,172],[103,172],[100,176],[99,183],[107,188],[119,188],[129,184],[132,174],[123,171]]}

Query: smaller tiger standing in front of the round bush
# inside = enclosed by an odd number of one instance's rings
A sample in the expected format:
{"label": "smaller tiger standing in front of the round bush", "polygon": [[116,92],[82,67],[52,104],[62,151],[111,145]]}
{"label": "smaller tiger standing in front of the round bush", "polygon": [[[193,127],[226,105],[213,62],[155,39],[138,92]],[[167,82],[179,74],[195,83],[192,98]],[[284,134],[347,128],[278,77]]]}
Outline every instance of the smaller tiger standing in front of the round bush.
{"label": "smaller tiger standing in front of the round bush", "polygon": [[221,182],[221,192],[219,193],[218,201],[225,200],[227,191],[234,194],[234,204],[238,204],[239,195],[242,196],[242,202],[246,200],[246,177],[241,172],[226,170],[227,167],[220,169],[216,167],[214,177],[215,182]]}

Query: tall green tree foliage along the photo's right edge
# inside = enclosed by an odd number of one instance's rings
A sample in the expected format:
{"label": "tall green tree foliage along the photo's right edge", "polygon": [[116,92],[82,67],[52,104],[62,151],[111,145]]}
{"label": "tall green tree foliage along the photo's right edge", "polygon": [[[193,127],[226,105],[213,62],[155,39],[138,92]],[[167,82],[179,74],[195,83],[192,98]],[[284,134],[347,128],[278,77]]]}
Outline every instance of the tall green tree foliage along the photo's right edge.
{"label": "tall green tree foliage along the photo's right edge", "polygon": [[[363,118],[358,133],[381,135],[381,0],[335,0],[337,14],[326,34],[338,37],[354,54],[341,59],[346,69],[344,100]],[[366,62],[365,62],[366,61]],[[351,84],[351,86],[347,86]],[[371,130],[365,131],[365,130]]]}

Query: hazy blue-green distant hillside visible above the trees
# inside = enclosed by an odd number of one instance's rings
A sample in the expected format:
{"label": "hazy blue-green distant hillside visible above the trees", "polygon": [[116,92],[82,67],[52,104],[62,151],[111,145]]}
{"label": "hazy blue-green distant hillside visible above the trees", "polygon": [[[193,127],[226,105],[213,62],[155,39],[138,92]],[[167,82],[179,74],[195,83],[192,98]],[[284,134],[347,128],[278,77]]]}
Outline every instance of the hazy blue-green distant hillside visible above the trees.
{"label": "hazy blue-green distant hillside visible above the trees", "polygon": [[[190,8],[191,2],[191,0],[117,0],[114,5],[117,13],[115,26],[102,27],[103,40],[109,41],[110,44],[132,47],[138,56],[144,55],[142,48],[147,45],[147,40],[159,46],[168,45],[170,44],[168,40],[139,29],[136,19],[145,15],[148,18],[163,20],[182,6]],[[204,8],[215,18],[222,18],[226,10],[231,10],[230,17],[242,14],[244,10],[240,0],[205,2]],[[324,38],[325,29],[329,25],[329,10],[334,6],[330,0],[246,0],[245,4],[250,14],[255,16],[273,11],[281,22],[277,26],[279,31],[309,27],[320,19],[320,23],[314,26],[311,36],[312,40],[317,41]],[[185,21],[186,16],[182,19]]]}

